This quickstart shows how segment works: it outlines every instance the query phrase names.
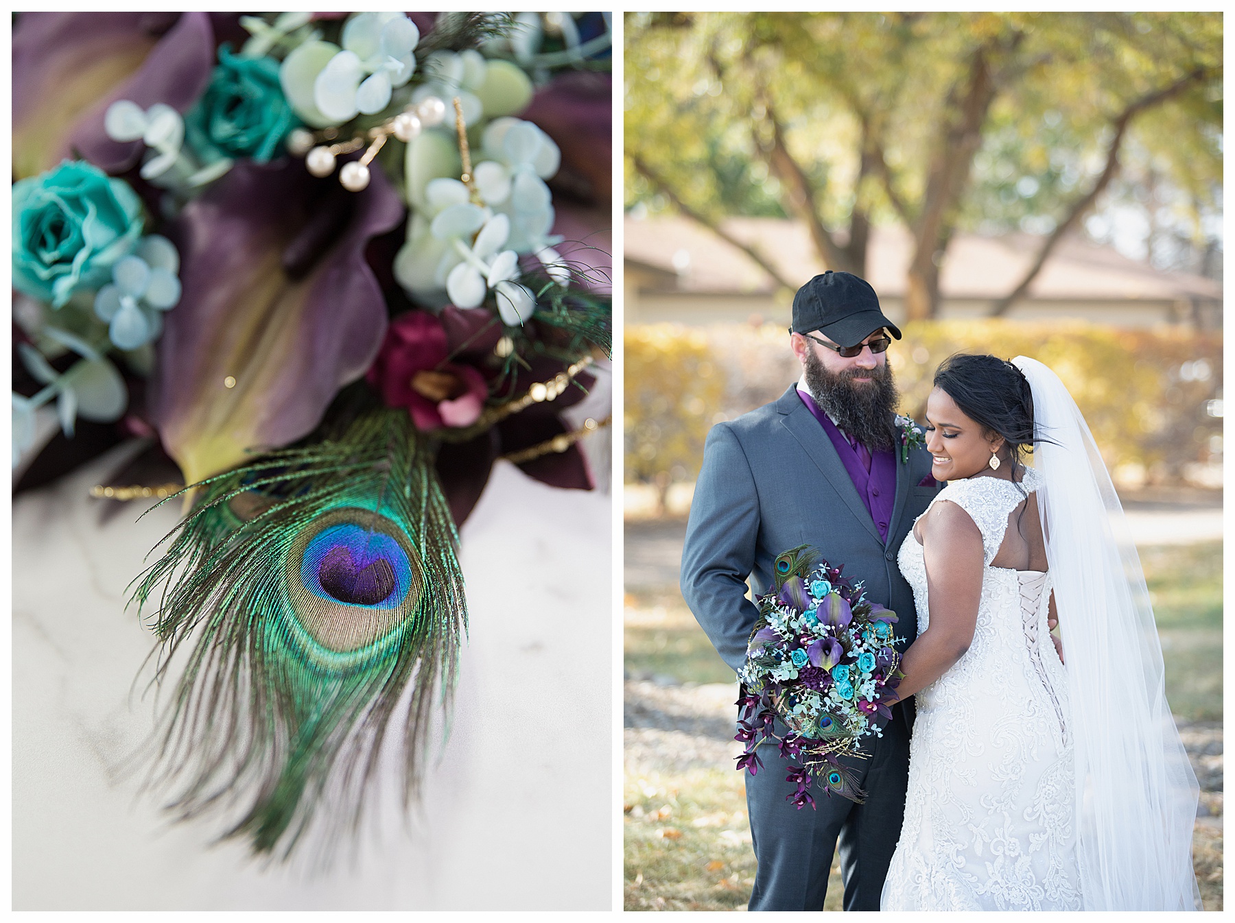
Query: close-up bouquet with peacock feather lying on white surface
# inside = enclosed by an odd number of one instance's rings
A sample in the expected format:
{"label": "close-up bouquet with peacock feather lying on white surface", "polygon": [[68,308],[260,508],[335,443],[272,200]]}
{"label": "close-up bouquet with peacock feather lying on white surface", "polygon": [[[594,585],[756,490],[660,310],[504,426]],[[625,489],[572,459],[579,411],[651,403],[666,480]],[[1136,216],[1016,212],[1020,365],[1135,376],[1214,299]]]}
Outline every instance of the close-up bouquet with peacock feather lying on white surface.
{"label": "close-up bouquet with peacock feather lying on white surface", "polygon": [[396,726],[415,793],[494,464],[593,486],[608,15],[26,12],[12,41],[14,480],[146,441],[95,495],[184,497],[133,584],[178,677],[157,775],[287,855],[319,808],[354,828]]}

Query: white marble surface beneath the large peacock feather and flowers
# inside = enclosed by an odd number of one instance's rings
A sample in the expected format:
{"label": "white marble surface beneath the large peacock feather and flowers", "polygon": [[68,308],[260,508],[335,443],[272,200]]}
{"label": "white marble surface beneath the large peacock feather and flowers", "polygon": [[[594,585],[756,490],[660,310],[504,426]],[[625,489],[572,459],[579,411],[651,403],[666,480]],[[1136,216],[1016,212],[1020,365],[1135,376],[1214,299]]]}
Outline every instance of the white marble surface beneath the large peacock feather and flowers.
{"label": "white marble surface beneath the large peacock feather and flowers", "polygon": [[608,495],[495,466],[462,529],[469,640],[422,807],[371,823],[354,867],[315,874],[211,845],[205,823],[168,826],[115,776],[153,717],[132,689],[153,638],[124,590],[177,519],[164,507],[133,523],[133,503],[100,524],[86,492],[116,458],[14,503],[15,909],[609,907]]}

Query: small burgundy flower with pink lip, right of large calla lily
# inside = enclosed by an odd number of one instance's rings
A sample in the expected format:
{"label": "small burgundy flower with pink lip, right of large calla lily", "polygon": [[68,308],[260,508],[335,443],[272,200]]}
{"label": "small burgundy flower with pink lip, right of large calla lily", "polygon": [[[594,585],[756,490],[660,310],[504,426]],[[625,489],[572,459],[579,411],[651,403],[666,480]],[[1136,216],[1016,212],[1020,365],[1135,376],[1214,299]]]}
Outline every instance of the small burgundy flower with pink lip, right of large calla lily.
{"label": "small burgundy flower with pink lip, right of large calla lily", "polygon": [[471,365],[447,362],[441,321],[409,311],[390,321],[368,383],[391,407],[406,407],[417,429],[471,426],[480,416],[489,389]]}

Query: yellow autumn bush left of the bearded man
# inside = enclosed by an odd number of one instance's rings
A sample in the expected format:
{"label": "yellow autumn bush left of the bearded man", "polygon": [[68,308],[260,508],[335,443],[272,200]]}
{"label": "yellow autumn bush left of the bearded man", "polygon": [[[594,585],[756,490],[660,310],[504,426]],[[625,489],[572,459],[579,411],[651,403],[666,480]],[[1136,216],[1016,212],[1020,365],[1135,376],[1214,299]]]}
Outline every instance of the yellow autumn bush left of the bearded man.
{"label": "yellow autumn bush left of the bearded man", "polygon": [[706,336],[677,325],[626,328],[626,480],[693,480],[725,389]]}

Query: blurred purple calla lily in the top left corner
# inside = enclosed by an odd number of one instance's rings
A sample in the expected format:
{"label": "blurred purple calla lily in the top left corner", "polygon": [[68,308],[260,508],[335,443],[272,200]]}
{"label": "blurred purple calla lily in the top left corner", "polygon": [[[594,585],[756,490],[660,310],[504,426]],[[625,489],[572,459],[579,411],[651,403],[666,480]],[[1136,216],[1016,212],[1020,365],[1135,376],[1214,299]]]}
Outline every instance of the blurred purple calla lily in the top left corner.
{"label": "blurred purple calla lily in the top left corner", "polygon": [[12,31],[16,178],[82,157],[105,173],[132,167],[140,141],[107,137],[120,99],[185,111],[210,81],[215,36],[205,12],[23,12]]}

